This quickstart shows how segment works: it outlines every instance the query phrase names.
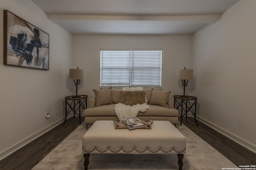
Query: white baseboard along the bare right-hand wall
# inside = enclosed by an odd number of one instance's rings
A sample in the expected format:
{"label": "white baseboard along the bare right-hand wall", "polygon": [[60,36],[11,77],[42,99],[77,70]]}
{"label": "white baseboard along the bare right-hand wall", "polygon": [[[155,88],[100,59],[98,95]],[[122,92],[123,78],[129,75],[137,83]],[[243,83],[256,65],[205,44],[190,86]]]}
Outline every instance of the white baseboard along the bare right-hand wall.
{"label": "white baseboard along the bare right-hand wall", "polygon": [[225,131],[224,129],[210,123],[209,121],[202,119],[201,117],[196,116],[196,119],[199,120],[200,122],[208,125],[209,127],[211,127],[212,129],[218,131],[219,133],[221,133],[222,135],[228,137],[229,139],[231,139],[232,141],[235,141],[236,143],[242,145],[243,147],[251,150],[252,152],[256,153],[256,146],[248,143],[247,141],[244,141],[243,139],[241,139],[240,137],[237,137],[236,135],[233,135],[231,133],[229,133],[228,131]]}

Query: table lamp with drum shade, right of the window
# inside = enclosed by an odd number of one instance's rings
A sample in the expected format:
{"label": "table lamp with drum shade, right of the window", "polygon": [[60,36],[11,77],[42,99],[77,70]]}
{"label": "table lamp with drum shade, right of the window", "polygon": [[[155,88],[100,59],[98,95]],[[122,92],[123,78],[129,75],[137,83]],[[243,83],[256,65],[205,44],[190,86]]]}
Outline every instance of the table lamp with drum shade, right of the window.
{"label": "table lamp with drum shade, right of the window", "polygon": [[184,87],[183,96],[185,96],[185,87],[188,85],[188,80],[193,79],[193,70],[186,69],[186,67],[183,70],[177,70],[177,79],[182,80],[182,86]]}

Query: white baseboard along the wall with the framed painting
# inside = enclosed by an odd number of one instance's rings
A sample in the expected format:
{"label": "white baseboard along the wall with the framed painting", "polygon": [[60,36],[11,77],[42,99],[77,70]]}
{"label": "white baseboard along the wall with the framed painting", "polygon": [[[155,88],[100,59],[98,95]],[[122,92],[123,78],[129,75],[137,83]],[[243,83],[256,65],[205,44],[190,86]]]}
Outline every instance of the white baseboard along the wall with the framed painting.
{"label": "white baseboard along the wall with the framed painting", "polygon": [[[70,117],[72,117],[72,115],[68,116],[67,119],[69,119]],[[28,143],[34,141],[36,138],[44,135],[44,133],[50,131],[51,129],[53,129],[54,127],[56,127],[57,125],[59,125],[60,123],[64,122],[65,117],[60,119],[59,121],[57,121],[56,123],[52,123],[51,125],[49,125],[48,127],[45,127],[44,129],[38,131],[37,133],[35,133],[34,135],[31,135],[30,137],[28,137],[27,139],[24,139],[23,141],[20,141],[19,143],[13,145],[12,147],[4,150],[3,152],[0,153],[0,160],[6,158],[7,156],[9,156],[10,154],[12,154],[13,152],[15,152],[16,150],[24,147],[25,145],[27,145]],[[58,124],[59,123],[59,124]]]}

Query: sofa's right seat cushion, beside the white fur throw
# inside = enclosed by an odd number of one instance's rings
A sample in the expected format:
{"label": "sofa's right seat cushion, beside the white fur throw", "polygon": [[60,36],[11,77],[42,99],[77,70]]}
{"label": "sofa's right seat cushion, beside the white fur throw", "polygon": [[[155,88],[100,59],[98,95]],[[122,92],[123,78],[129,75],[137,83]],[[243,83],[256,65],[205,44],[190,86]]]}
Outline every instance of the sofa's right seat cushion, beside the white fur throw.
{"label": "sofa's right seat cushion, beside the white fur throw", "polygon": [[158,105],[150,105],[148,104],[149,109],[142,113],[139,112],[138,116],[178,116],[179,111],[177,109],[170,109]]}

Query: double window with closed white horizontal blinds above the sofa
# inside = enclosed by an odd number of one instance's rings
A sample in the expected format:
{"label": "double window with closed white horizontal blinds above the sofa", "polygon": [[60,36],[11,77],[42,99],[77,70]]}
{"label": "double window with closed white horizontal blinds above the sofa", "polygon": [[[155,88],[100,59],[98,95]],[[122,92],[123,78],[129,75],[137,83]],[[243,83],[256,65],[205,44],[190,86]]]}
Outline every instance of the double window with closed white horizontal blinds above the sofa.
{"label": "double window with closed white horizontal blinds above the sofa", "polygon": [[101,49],[101,87],[160,87],[162,49]]}

